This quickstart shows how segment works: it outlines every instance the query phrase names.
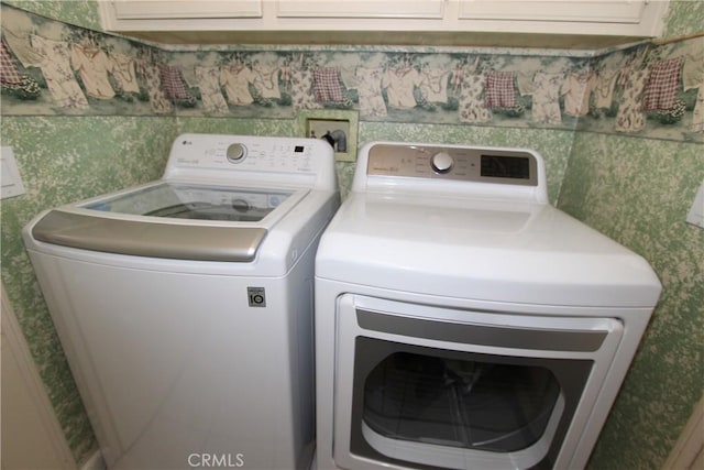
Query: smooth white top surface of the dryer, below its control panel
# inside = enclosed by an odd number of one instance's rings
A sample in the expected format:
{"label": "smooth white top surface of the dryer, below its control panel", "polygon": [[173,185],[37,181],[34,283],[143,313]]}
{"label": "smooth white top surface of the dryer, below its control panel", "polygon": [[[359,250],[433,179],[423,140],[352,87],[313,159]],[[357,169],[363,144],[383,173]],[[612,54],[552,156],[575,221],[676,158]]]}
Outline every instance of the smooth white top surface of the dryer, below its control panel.
{"label": "smooth white top surface of the dryer, below its control panel", "polygon": [[659,294],[644,259],[544,204],[354,193],[323,237],[316,275],[363,285],[573,306]]}

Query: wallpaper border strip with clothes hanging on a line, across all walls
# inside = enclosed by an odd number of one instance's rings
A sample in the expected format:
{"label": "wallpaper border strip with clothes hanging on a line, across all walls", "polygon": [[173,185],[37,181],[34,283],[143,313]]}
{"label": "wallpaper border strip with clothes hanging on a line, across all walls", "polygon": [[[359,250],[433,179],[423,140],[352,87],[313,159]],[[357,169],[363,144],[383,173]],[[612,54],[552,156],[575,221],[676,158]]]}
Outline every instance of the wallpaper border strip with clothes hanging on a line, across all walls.
{"label": "wallpaper border strip with clothes hanging on a line, across all walls", "polygon": [[6,116],[294,119],[623,133],[704,142],[704,37],[598,56],[330,46],[174,51],[2,4]]}

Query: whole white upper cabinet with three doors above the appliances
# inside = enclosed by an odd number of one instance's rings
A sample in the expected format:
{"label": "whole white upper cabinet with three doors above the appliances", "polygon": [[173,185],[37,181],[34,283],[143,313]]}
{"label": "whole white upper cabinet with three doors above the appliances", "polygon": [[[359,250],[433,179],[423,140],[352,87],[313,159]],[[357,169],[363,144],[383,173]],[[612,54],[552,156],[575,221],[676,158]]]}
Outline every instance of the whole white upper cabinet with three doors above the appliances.
{"label": "whole white upper cabinet with three doors above the appliances", "polygon": [[667,0],[108,0],[107,31],[407,31],[658,36]]}

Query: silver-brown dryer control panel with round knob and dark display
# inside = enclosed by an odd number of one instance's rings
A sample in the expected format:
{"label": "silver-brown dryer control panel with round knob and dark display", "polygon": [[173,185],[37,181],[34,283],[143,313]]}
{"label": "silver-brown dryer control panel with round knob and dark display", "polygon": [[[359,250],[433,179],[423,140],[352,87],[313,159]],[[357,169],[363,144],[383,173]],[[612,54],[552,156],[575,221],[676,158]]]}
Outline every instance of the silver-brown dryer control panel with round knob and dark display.
{"label": "silver-brown dryer control panel with round knob and dark display", "polygon": [[376,144],[367,175],[538,186],[536,156],[524,150]]}

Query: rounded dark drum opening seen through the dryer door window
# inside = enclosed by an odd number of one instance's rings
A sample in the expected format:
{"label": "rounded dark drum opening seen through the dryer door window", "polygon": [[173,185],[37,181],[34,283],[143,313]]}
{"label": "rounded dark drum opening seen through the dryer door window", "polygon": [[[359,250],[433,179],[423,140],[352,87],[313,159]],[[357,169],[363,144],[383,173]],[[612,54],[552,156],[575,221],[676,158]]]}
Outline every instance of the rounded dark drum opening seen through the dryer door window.
{"label": "rounded dark drum opening seen through the dryer door window", "polygon": [[366,379],[363,419],[391,439],[510,452],[546,433],[559,397],[541,367],[396,352]]}

